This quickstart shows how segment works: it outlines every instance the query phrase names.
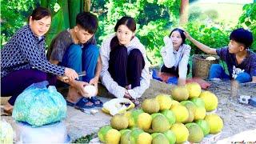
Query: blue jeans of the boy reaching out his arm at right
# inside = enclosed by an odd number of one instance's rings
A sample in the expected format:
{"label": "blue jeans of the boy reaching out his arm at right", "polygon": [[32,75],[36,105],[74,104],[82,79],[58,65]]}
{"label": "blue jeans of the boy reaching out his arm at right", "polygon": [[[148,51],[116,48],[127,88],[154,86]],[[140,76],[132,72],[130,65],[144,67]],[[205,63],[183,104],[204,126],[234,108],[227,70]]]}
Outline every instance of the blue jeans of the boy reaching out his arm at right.
{"label": "blue jeans of the boy reaching out his arm at right", "polygon": [[[224,80],[230,80],[230,76],[225,73],[225,70],[220,64],[212,64],[210,66],[210,74],[209,74],[209,79],[212,78],[220,78]],[[239,83],[244,83],[244,82],[250,82],[251,81],[251,76],[250,74],[246,72],[242,72],[238,74],[238,77],[235,78]]]}

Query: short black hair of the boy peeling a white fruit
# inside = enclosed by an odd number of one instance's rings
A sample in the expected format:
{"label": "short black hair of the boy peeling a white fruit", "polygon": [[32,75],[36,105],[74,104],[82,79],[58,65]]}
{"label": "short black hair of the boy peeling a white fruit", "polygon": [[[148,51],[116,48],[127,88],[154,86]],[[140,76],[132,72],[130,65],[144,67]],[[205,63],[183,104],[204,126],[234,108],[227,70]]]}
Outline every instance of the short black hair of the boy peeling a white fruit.
{"label": "short black hair of the boy peeling a white fruit", "polygon": [[94,34],[98,29],[98,18],[90,12],[81,12],[77,15],[76,24],[90,34]]}

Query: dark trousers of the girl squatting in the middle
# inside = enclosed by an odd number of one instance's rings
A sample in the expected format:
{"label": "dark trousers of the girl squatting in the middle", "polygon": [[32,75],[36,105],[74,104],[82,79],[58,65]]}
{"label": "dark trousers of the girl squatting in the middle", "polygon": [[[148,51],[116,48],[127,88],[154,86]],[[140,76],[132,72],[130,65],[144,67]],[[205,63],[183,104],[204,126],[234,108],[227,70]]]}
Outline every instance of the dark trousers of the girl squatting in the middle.
{"label": "dark trousers of the girl squatting in the middle", "polygon": [[130,50],[128,55],[126,46],[118,46],[110,52],[109,72],[119,86],[131,88],[140,86],[142,69],[145,61],[142,52],[138,49]]}

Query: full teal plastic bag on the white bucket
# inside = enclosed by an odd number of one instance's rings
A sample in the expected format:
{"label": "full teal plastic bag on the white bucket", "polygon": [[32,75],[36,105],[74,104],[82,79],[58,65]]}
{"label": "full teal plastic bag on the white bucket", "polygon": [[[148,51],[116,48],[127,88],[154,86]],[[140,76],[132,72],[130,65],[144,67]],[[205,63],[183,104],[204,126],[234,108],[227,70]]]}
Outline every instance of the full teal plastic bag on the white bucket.
{"label": "full teal plastic bag on the white bucket", "polygon": [[47,81],[30,85],[18,95],[12,117],[31,126],[42,126],[66,118],[66,101]]}

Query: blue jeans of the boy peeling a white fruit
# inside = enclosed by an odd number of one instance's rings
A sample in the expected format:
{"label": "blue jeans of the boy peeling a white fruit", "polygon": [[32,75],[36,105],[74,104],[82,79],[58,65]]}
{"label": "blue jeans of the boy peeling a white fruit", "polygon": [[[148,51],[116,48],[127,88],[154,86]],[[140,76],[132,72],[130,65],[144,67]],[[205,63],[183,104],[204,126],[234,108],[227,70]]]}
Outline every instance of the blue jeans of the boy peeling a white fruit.
{"label": "blue jeans of the boy peeling a white fruit", "polygon": [[65,52],[61,66],[74,69],[77,73],[86,70],[86,76],[79,78],[80,81],[90,82],[94,78],[98,62],[99,50],[95,45],[86,47],[73,44]]}

